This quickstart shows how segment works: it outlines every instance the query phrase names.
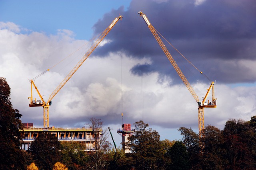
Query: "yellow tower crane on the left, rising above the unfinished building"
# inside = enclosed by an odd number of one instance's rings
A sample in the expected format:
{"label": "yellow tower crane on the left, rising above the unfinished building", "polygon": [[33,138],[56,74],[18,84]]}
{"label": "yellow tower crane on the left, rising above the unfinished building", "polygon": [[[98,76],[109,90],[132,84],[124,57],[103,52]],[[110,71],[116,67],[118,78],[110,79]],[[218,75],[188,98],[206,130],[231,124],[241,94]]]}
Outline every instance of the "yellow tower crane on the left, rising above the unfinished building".
{"label": "yellow tower crane on the left, rising above the unfinished building", "polygon": [[[73,74],[78,70],[78,68],[84,63],[84,61],[89,57],[89,55],[94,51],[94,49],[100,44],[100,42],[108,35],[109,31],[116,25],[119,20],[122,20],[123,16],[119,14],[119,17],[115,18],[112,23],[102,32],[100,37],[96,39],[90,49],[86,52],[86,54],[82,57],[82,59],[76,64],[76,66],[69,72],[69,74],[62,80],[62,82],[58,85],[58,87],[50,94],[49,99],[47,102],[44,101],[42,95],[38,91],[38,88],[34,84],[34,79],[30,80],[31,83],[31,96],[28,97],[30,99],[29,106],[30,107],[37,107],[42,106],[44,107],[44,128],[49,127],[49,106],[52,105],[52,99],[56,94],[60,91],[60,89],[68,82],[68,80],[73,76]],[[41,100],[33,99],[32,89],[33,87],[36,89],[37,94],[39,95]]]}

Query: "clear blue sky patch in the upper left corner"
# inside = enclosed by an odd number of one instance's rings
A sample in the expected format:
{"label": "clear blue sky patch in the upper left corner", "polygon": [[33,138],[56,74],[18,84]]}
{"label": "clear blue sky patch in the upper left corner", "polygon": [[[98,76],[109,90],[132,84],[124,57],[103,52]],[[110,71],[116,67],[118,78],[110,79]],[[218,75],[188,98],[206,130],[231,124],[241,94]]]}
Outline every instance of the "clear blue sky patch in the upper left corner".
{"label": "clear blue sky patch in the upper left corner", "polygon": [[124,6],[124,10],[127,10],[130,2],[131,0],[0,0],[0,20],[47,34],[56,34],[58,29],[68,29],[75,33],[76,39],[90,39],[96,21],[112,9]]}

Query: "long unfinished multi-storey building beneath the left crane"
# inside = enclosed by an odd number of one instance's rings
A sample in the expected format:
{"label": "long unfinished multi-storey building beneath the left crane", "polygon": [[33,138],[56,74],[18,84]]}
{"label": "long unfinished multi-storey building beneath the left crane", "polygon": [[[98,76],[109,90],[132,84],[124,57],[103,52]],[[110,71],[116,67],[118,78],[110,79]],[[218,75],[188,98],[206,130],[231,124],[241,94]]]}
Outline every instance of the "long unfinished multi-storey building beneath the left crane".
{"label": "long unfinished multi-storey building beneath the left crane", "polygon": [[95,136],[100,136],[102,129],[97,131],[98,135],[94,135],[94,131],[91,128],[79,127],[79,128],[62,128],[62,127],[49,127],[49,128],[36,128],[33,127],[33,123],[22,123],[24,129],[22,131],[24,138],[22,139],[24,143],[22,144],[22,149],[27,150],[38,135],[42,133],[50,133],[57,137],[58,141],[77,141],[86,144],[86,152],[91,152],[94,150]]}

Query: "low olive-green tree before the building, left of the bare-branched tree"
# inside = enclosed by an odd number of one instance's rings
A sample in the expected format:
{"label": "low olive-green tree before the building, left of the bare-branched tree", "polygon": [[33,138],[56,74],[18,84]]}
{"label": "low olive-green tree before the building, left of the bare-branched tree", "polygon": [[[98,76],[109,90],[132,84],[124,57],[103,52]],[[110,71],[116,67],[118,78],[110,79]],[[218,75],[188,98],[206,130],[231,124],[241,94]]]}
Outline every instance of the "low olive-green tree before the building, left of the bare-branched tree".
{"label": "low olive-green tree before the building, left of the bare-branched tree", "polygon": [[76,141],[62,141],[61,160],[69,170],[82,170],[88,162],[88,154],[85,152],[86,146]]}

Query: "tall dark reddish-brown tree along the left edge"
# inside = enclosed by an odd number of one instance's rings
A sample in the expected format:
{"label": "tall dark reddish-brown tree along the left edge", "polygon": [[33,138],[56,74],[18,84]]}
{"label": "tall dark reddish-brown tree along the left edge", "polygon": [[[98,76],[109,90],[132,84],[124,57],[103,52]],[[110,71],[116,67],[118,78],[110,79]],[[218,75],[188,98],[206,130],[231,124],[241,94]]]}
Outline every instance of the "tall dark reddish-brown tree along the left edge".
{"label": "tall dark reddish-brown tree along the left edge", "polygon": [[0,170],[26,169],[26,152],[21,150],[22,115],[12,107],[11,89],[0,77]]}

